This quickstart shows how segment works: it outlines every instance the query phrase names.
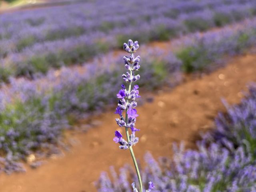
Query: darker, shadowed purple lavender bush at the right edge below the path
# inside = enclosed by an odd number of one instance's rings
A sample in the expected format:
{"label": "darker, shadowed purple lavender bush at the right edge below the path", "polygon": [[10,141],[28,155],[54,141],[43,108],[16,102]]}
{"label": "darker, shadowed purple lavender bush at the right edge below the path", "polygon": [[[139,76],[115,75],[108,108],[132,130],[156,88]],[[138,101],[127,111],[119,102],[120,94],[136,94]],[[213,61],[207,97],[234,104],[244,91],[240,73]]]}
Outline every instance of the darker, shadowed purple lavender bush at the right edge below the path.
{"label": "darker, shadowed purple lavender bush at the right edge below the path", "polygon": [[226,104],[226,108],[227,113],[220,113],[215,119],[216,130],[204,135],[204,140],[220,142],[227,148],[244,145],[256,159],[256,86],[249,87],[249,94],[240,104]]}

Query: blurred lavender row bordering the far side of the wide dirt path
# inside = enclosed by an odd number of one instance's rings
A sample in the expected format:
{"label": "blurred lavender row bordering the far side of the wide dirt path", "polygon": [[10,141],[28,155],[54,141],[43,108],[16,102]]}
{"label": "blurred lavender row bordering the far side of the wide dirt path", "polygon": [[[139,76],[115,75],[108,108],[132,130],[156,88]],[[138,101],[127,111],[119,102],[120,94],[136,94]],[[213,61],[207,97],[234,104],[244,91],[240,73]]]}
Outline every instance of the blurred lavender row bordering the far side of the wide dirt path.
{"label": "blurred lavender row bordering the far side of the wide dirt path", "polygon": [[[200,36],[194,34],[188,38],[189,41],[184,39],[184,42],[178,40],[173,43],[180,45],[178,53],[187,49],[186,44],[194,49],[203,44],[205,54],[202,58],[208,54],[211,56],[208,58],[211,62],[205,67],[212,68],[216,65],[212,63],[220,62],[221,56],[239,54],[254,45],[255,31],[256,20],[247,20],[242,26],[226,27]],[[241,36],[248,36],[243,38],[242,44]],[[185,65],[182,57],[178,59],[171,51],[166,53],[145,46],[138,54],[144,58],[140,68],[143,77],[139,84],[141,87],[157,88],[166,83],[173,86],[180,81],[181,68]],[[38,156],[46,151],[47,154],[55,152],[55,147],[61,144],[62,130],[69,127],[74,117],[84,112],[102,111],[105,106],[113,104],[114,93],[119,88],[116,84],[118,74],[122,72],[120,58],[121,55],[110,53],[79,68],[62,67],[33,81],[11,78],[10,84],[2,84],[0,154],[3,158],[0,159],[0,170],[8,173],[19,171],[21,166],[15,161],[26,160],[26,156],[35,151]],[[204,61],[202,58],[198,56],[193,60],[195,69]]]}

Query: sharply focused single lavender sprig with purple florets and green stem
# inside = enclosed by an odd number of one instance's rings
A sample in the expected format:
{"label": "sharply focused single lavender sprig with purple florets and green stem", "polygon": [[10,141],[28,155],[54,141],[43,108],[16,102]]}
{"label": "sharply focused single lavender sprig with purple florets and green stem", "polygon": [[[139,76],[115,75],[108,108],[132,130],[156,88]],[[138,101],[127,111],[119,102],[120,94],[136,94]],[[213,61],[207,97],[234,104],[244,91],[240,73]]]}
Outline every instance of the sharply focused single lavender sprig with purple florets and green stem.
{"label": "sharply focused single lavender sprig with purple florets and green stem", "polygon": [[[137,56],[135,58],[134,53],[136,50],[138,50],[139,44],[138,41],[133,42],[132,40],[128,40],[128,44],[124,43],[124,50],[128,53],[130,53],[130,57],[124,56],[124,66],[128,70],[126,74],[122,74],[123,80],[129,84],[128,90],[126,89],[125,85],[122,84],[122,89],[119,90],[118,94],[116,94],[117,98],[119,99],[118,105],[116,108],[115,114],[119,114],[120,118],[116,118],[116,123],[120,127],[125,128],[126,132],[126,138],[122,138],[122,134],[120,131],[115,131],[115,137],[114,142],[119,143],[120,149],[127,150],[129,149],[132,155],[132,160],[134,162],[134,166],[136,169],[136,173],[138,176],[138,181],[140,184],[140,192],[142,192],[142,180],[140,176],[140,170],[138,168],[138,164],[132,149],[132,146],[138,143],[139,138],[135,136],[136,131],[139,131],[139,129],[135,128],[136,118],[138,116],[137,110],[135,109],[137,106],[137,102],[135,101],[136,98],[139,98],[139,86],[134,85],[132,88],[132,82],[136,82],[140,79],[140,75],[134,74],[134,71],[138,71],[140,68],[139,62],[140,62],[140,56]],[[123,111],[125,111],[125,117],[122,116]],[[132,132],[129,134],[129,130]],[[138,190],[135,187],[134,182],[132,183],[133,192],[138,192]],[[154,184],[152,182],[148,183],[148,190],[146,192],[150,192],[151,189],[154,188]]]}

